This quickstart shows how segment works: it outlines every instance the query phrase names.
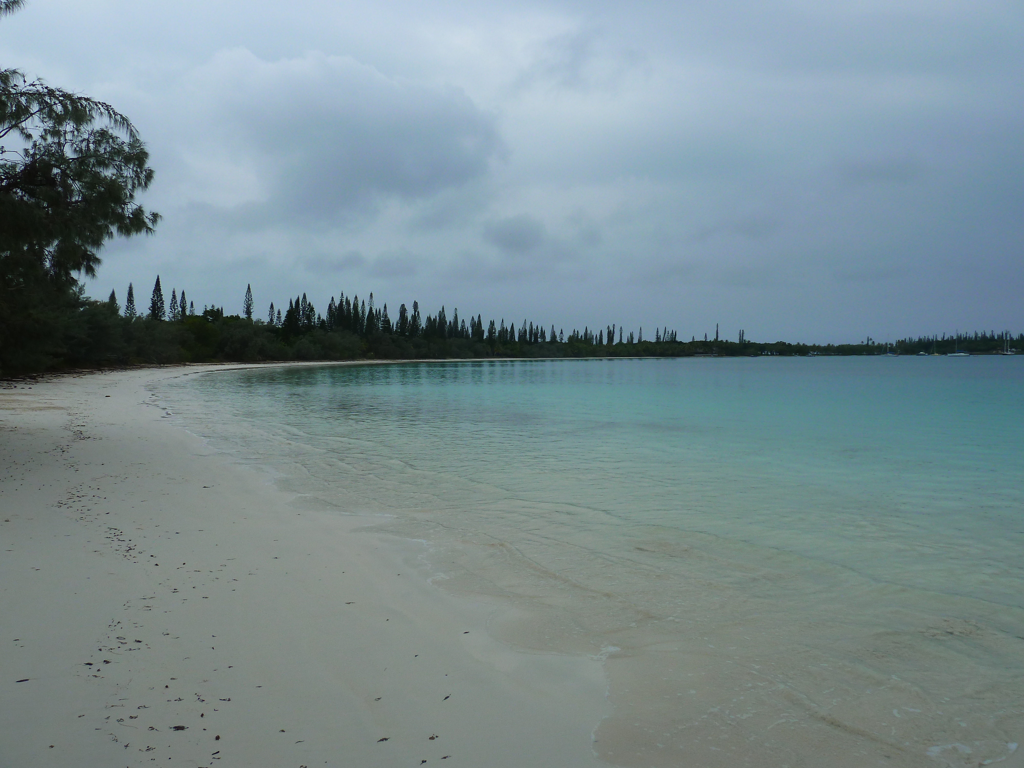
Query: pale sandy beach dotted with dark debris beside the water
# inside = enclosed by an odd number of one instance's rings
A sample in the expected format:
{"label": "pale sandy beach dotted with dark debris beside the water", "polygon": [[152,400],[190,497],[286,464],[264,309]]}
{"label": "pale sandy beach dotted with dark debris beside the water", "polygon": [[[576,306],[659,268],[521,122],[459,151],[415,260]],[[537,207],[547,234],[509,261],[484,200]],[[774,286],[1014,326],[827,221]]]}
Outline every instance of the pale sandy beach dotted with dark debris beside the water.
{"label": "pale sandy beach dotted with dark debris beside the water", "polygon": [[0,390],[0,765],[605,765],[599,660],[172,426],[178,373]]}

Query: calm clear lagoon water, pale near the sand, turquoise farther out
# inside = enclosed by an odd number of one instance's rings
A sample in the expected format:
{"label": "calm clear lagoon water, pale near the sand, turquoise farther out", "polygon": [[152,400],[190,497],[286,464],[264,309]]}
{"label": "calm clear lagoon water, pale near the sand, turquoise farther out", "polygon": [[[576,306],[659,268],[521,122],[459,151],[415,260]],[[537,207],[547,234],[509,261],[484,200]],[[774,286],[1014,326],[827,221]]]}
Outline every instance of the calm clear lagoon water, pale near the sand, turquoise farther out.
{"label": "calm clear lagoon water, pale near the sand, turquoise farther out", "polygon": [[1020,756],[1024,358],[267,368],[158,394],[429,542],[496,635],[608,658],[611,762]]}

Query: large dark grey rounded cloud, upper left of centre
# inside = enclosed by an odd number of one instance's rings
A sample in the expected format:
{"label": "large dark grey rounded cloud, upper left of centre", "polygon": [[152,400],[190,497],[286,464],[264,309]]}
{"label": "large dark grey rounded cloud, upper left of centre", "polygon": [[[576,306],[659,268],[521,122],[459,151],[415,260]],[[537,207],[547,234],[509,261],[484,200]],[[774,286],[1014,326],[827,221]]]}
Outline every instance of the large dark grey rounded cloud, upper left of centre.
{"label": "large dark grey rounded cloud, upper left of centre", "polygon": [[463,91],[388,78],[348,56],[267,61],[234,49],[189,81],[218,145],[266,190],[261,222],[429,197],[484,174],[501,151],[495,117]]}

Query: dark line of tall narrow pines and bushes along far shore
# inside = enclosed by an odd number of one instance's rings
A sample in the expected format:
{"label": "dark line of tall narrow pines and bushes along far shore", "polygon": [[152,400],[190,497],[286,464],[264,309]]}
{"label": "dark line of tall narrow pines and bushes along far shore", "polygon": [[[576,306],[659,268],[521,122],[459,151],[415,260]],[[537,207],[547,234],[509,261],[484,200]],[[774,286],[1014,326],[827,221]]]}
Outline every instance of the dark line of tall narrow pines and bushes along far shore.
{"label": "dark line of tall narrow pines and bushes along far shore", "polygon": [[[879,343],[805,344],[753,341],[740,331],[735,340],[680,337],[668,326],[626,330],[621,325],[566,330],[524,318],[484,321],[460,316],[442,306],[422,314],[419,303],[400,304],[392,317],[374,295],[331,298],[319,312],[303,294],[288,306],[271,303],[265,319],[255,315],[247,287],[241,314],[223,307],[197,310],[184,291],[165,299],[160,278],[146,311],[135,304],[129,285],[122,306],[115,292],[105,301],[85,297],[81,289],[47,323],[26,329],[18,344],[8,338],[0,347],[0,375],[17,376],[61,369],[109,368],[183,362],[259,362],[281,360],[472,359],[495,357],[736,357],[761,355],[995,354],[1024,345],[1024,334],[975,332]],[[26,317],[31,323],[31,317]]]}

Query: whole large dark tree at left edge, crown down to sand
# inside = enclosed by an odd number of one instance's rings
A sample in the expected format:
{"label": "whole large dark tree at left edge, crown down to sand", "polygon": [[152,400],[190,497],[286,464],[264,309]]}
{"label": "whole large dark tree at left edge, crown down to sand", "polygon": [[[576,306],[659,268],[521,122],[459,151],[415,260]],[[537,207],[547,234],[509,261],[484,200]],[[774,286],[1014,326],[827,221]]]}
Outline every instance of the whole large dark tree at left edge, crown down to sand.
{"label": "whole large dark tree at left edge, crown down to sand", "polygon": [[[0,15],[20,7],[0,0]],[[129,120],[102,101],[0,70],[0,370],[67,359],[92,276],[116,236],[148,233],[153,181]]]}

